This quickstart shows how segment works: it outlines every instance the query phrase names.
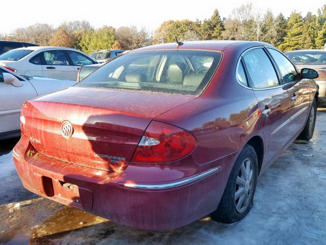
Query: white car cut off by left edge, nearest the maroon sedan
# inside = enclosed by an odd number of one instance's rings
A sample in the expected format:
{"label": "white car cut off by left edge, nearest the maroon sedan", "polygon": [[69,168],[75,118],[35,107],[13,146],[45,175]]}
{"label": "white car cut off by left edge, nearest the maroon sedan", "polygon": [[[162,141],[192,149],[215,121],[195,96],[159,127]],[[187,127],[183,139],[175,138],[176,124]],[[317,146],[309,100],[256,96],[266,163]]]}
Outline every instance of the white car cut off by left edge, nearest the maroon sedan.
{"label": "white car cut off by left edge, nearest the maroon sedan", "polygon": [[25,101],[68,88],[76,82],[17,75],[0,67],[0,139],[20,135],[20,109]]}

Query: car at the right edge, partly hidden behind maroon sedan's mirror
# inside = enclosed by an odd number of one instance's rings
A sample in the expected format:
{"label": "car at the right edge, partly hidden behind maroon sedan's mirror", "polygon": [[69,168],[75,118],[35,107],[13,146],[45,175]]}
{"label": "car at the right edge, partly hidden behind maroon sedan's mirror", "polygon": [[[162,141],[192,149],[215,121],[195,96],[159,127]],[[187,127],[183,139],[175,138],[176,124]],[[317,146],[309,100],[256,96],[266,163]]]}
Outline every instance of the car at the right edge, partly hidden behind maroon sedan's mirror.
{"label": "car at the right edge, partly hidden behind maroon sedan's mirror", "polygon": [[315,78],[319,86],[318,104],[326,106],[326,50],[298,50],[285,52],[297,68],[311,68],[318,72]]}

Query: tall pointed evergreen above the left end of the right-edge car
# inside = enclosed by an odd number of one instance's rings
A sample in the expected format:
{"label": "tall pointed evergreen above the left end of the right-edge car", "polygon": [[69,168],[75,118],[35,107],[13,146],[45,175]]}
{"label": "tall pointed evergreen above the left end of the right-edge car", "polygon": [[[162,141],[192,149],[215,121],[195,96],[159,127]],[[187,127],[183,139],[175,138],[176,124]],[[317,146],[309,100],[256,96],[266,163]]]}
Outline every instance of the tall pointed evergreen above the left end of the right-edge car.
{"label": "tall pointed evergreen above the left end of the right-edge car", "polygon": [[300,13],[292,12],[287,21],[286,37],[280,44],[283,51],[300,50],[303,45],[304,21]]}

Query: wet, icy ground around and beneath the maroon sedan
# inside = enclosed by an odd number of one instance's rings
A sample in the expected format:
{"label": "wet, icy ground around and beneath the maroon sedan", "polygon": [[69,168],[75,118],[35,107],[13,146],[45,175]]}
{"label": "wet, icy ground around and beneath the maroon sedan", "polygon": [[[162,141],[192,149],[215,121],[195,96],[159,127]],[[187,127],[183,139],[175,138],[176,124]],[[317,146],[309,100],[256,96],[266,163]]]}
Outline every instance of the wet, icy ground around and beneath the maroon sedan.
{"label": "wet, icy ground around and beneath the maroon sedan", "polygon": [[254,207],[240,222],[207,216],[166,232],[122,226],[25,190],[9,152],[17,139],[0,141],[0,244],[326,244],[325,135],[321,109],[313,139],[295,141],[259,178]]}

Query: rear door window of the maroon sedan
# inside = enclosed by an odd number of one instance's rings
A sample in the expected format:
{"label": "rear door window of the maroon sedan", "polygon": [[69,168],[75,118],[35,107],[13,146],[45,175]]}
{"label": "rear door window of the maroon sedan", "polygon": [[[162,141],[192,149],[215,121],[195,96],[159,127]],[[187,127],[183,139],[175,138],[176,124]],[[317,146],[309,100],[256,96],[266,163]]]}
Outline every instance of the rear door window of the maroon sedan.
{"label": "rear door window of the maroon sedan", "polygon": [[248,75],[254,88],[270,88],[279,86],[274,66],[262,48],[255,48],[242,55]]}

